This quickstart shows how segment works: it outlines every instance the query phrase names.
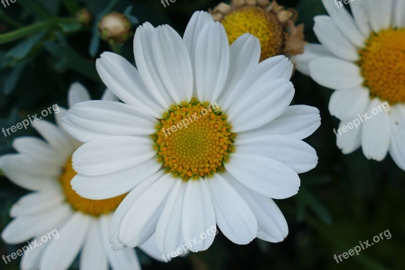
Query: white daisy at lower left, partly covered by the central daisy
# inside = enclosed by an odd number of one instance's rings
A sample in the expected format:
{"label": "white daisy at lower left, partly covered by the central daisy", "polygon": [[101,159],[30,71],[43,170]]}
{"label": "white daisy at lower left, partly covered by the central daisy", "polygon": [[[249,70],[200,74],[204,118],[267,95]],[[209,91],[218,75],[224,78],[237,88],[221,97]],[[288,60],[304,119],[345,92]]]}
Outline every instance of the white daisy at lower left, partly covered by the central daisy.
{"label": "white daisy at lower left, partly covered by the central daisy", "polygon": [[[72,84],[68,103],[90,100],[87,90]],[[106,91],[103,100],[116,100]],[[110,101],[111,102],[111,101]],[[76,172],[72,168],[73,151],[82,143],[69,136],[61,126],[63,113],[55,114],[57,125],[44,120],[34,128],[46,141],[35,137],[21,137],[13,141],[17,154],[0,157],[0,169],[15,184],[32,190],[12,206],[14,217],[3,230],[6,243],[18,244],[37,239],[57,229],[58,239],[51,239],[27,252],[21,260],[22,269],[67,269],[80,253],[80,269],[140,269],[134,249],[113,251],[108,241],[108,226],[112,213],[125,194],[107,200],[94,201],[80,197],[72,190],[70,180]],[[143,250],[157,254],[153,239]],[[152,244],[152,245],[150,245]]]}

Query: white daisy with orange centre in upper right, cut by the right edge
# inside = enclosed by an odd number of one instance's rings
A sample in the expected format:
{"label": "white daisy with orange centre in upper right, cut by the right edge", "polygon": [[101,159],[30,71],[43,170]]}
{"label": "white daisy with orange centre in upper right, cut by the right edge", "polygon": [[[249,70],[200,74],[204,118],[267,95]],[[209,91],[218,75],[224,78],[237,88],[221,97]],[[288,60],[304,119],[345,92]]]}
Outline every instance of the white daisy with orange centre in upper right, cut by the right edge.
{"label": "white daisy with orange centre in upper right, cut by the right edge", "polygon": [[[387,152],[405,170],[405,1],[350,2],[353,15],[322,0],[330,16],[314,18],[321,45],[297,56],[297,69],[335,89],[329,110],[347,125],[372,117],[337,138],[343,153],[361,146],[366,158],[382,161]],[[371,111],[388,102],[391,109]]]}

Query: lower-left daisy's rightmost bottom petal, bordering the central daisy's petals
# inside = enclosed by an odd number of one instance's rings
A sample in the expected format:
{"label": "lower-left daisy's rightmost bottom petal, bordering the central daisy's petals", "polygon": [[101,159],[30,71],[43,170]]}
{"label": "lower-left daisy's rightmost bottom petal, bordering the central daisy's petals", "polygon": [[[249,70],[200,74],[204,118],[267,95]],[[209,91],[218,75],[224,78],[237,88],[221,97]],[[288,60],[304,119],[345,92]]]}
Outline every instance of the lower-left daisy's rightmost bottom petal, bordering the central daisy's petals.
{"label": "lower-left daisy's rightmost bottom petal, bordering the central daisy's petals", "polygon": [[100,217],[101,240],[104,252],[113,270],[141,270],[135,249],[126,248],[114,251],[111,243],[108,241],[108,228],[111,222],[111,215],[102,215]]}

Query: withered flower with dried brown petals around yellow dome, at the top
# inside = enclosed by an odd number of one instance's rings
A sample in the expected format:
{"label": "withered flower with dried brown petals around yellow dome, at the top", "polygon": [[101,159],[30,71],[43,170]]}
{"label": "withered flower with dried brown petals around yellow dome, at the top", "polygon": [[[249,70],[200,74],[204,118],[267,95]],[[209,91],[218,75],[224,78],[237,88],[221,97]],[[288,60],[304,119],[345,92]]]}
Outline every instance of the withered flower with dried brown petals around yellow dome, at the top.
{"label": "withered flower with dried brown petals around yellow dome, at the top", "polygon": [[295,25],[298,13],[270,0],[232,0],[210,11],[214,20],[225,27],[229,43],[250,33],[259,38],[260,60],[272,56],[288,57],[304,51],[304,25]]}

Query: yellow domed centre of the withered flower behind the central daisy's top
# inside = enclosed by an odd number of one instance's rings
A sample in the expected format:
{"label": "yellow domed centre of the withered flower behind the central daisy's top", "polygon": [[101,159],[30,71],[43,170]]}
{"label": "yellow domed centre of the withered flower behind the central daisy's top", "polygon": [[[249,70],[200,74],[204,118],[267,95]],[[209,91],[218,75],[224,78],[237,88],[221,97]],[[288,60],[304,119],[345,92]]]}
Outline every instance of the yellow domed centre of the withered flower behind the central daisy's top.
{"label": "yellow domed centre of the withered flower behind the central daisy's top", "polygon": [[260,7],[244,7],[225,15],[221,20],[229,44],[244,33],[259,38],[262,54],[260,61],[282,54],[284,34],[276,16]]}

